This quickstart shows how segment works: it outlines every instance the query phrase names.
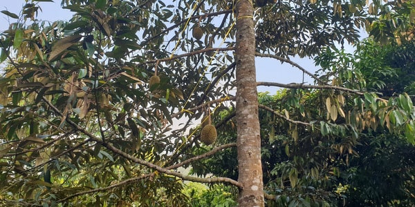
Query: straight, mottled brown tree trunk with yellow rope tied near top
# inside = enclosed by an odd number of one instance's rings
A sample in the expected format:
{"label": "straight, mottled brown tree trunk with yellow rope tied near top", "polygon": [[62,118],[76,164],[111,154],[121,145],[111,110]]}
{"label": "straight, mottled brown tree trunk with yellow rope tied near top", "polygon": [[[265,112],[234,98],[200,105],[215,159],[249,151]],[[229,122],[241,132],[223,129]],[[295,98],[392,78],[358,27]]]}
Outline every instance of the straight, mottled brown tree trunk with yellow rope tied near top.
{"label": "straight, mottled brown tree trunk with yellow rope tied near top", "polygon": [[252,0],[236,1],[239,206],[264,206]]}

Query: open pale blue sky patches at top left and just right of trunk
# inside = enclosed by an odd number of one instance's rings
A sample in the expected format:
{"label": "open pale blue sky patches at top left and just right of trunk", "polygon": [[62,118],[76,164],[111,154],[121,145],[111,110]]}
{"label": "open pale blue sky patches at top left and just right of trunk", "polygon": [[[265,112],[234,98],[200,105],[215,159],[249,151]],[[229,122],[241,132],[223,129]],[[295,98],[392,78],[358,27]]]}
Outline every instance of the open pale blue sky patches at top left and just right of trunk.
{"label": "open pale blue sky patches at top left and just right of trunk", "polygon": [[[19,15],[21,8],[26,4],[25,0],[2,0],[0,10],[8,10]],[[39,2],[42,11],[39,11],[37,19],[44,21],[68,20],[71,19],[71,12],[64,10],[60,6],[61,0],[55,2]],[[0,32],[7,30],[9,22],[15,19],[8,19],[5,14],[0,13]],[[293,58],[293,61],[298,63],[303,68],[310,72],[314,72],[317,68],[314,66],[311,59]],[[270,58],[257,57],[255,59],[257,67],[257,81],[270,81],[277,83],[301,83],[303,81],[303,74],[297,68],[293,68],[288,63],[282,64],[280,61]],[[304,76],[306,83],[313,84],[313,80],[307,75]],[[268,91],[270,94],[275,94],[278,88],[259,86],[259,92]]]}

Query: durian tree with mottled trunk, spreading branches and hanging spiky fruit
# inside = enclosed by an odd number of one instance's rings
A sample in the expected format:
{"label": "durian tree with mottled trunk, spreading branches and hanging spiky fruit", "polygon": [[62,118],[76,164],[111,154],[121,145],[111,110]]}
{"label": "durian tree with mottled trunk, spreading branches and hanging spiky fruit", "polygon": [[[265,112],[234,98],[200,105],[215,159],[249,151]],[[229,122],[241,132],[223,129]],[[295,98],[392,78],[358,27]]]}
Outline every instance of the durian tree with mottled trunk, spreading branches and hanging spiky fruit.
{"label": "durian tree with mottled trunk, spreading branches and hanging spiky fruit", "polygon": [[[263,191],[258,85],[322,90],[316,108],[327,120],[306,124],[322,136],[336,132],[338,116],[357,130],[371,116],[413,140],[412,103],[290,60],[358,41],[380,1],[63,0],[73,18],[53,23],[37,20],[39,1],[2,11],[12,22],[0,34],[3,205],[188,206],[187,180],[234,186],[239,206],[264,206],[276,197]],[[317,84],[257,83],[255,57],[293,64]],[[364,99],[343,105],[356,96]],[[295,139],[301,123],[290,114],[307,111],[293,104],[270,110]],[[216,118],[230,107],[236,121]],[[205,116],[214,130],[201,133]],[[225,125],[237,128],[236,143],[201,141]],[[237,148],[237,178],[178,170],[226,148]]]}

